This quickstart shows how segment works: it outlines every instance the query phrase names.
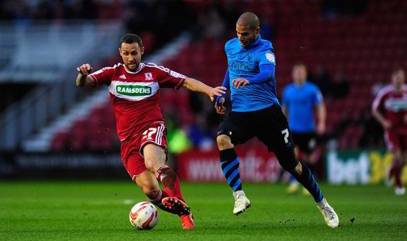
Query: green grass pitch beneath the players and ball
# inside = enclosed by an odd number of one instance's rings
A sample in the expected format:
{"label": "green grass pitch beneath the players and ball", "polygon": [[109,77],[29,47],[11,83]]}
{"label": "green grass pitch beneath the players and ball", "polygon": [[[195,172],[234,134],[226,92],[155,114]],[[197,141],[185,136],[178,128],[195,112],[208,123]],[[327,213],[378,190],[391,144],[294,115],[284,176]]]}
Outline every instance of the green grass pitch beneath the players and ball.
{"label": "green grass pitch beneath the players and ball", "polygon": [[337,229],[326,226],[310,196],[287,196],[286,185],[246,183],[252,207],[241,216],[232,214],[226,183],[183,183],[182,189],[195,215],[194,231],[181,230],[177,216],[160,209],[155,229],[135,231],[128,213],[146,198],[131,182],[0,182],[0,239],[407,239],[407,196],[395,196],[393,188],[321,185],[338,213]]}

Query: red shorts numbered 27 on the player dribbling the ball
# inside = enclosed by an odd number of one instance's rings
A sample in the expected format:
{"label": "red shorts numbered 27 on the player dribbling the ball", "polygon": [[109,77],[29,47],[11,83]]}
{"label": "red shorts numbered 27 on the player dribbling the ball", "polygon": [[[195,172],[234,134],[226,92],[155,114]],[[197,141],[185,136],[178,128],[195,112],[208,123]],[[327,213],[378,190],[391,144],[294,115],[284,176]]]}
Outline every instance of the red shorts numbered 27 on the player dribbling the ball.
{"label": "red shorts numbered 27 on the player dribbling the ball", "polygon": [[144,165],[143,147],[148,143],[163,147],[167,151],[167,128],[163,121],[152,123],[140,134],[121,142],[121,163],[133,181],[147,170]]}

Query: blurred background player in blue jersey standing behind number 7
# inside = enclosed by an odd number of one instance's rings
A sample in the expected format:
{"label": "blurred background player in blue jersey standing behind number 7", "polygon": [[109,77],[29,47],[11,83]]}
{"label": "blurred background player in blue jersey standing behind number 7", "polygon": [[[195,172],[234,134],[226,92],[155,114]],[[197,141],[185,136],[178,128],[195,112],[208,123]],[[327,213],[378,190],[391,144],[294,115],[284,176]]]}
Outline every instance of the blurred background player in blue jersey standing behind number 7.
{"label": "blurred background player in blue jersey standing behind number 7", "polygon": [[[317,85],[307,82],[307,70],[304,63],[295,63],[292,66],[292,81],[287,85],[281,100],[281,109],[288,118],[288,125],[291,129],[292,140],[301,152],[301,160],[312,167],[312,151],[317,144],[318,135],[325,133],[326,108],[324,99]],[[315,127],[313,109],[316,107],[318,125]],[[311,169],[312,170],[312,169]],[[287,191],[290,194],[297,193],[298,182],[291,176],[290,186]],[[309,195],[306,189],[303,193]]]}

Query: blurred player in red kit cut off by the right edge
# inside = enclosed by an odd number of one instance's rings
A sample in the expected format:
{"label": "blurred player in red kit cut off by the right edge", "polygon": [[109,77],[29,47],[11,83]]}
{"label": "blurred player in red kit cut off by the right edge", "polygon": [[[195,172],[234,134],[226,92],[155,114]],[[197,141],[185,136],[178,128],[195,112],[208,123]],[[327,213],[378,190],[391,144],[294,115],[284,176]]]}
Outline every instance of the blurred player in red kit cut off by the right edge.
{"label": "blurred player in red kit cut off by the right edge", "polygon": [[[391,75],[391,84],[377,94],[373,102],[373,116],[384,127],[384,139],[393,152],[393,164],[388,178],[395,178],[396,195],[404,195],[406,189],[401,182],[401,171],[407,160],[407,85],[403,69]],[[384,113],[384,114],[381,114]]]}

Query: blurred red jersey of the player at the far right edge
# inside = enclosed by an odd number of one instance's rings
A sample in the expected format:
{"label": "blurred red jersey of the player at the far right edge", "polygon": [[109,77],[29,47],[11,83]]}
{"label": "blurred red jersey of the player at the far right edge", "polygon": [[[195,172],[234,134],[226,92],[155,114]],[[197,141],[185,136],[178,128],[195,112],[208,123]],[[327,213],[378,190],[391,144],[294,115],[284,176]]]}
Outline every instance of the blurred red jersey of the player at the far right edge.
{"label": "blurred red jersey of the player at the far right edge", "polygon": [[407,124],[404,121],[407,114],[407,85],[396,91],[393,85],[383,87],[373,101],[373,109],[384,111],[385,118],[390,121],[390,129],[399,129],[407,132]]}

